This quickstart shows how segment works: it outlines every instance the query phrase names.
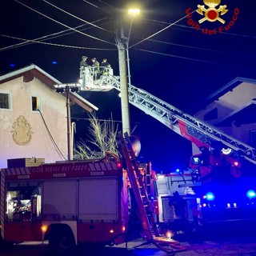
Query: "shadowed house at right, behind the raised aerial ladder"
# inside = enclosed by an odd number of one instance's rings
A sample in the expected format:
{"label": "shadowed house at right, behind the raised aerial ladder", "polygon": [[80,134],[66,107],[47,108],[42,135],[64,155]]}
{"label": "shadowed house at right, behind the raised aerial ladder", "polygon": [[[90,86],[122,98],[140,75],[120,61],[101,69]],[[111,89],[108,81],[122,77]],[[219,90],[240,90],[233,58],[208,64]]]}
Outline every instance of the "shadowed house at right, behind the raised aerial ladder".
{"label": "shadowed house at right, behind the raised aerial ladder", "polygon": [[234,78],[206,98],[194,117],[256,148],[256,80]]}

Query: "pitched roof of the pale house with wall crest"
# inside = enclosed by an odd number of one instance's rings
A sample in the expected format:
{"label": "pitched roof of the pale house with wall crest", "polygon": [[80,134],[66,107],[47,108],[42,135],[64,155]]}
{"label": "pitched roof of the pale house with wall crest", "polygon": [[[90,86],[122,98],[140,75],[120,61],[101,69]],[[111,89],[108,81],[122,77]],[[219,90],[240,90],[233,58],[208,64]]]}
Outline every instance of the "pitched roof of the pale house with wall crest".
{"label": "pitched roof of the pale house with wall crest", "polygon": [[[24,82],[30,82],[34,77],[38,78],[40,81],[44,82],[47,86],[50,86],[55,90],[55,85],[61,84],[56,78],[52,77],[46,71],[42,70],[38,66],[31,64],[30,66],[23,67],[19,70],[14,70],[8,74],[0,76],[0,84],[13,80],[23,76]],[[63,97],[65,95],[63,94]],[[98,110],[97,106],[94,106],[92,103],[88,102],[85,98],[82,98],[80,95],[70,92],[70,100],[77,103],[83,109],[91,112],[92,110]]]}

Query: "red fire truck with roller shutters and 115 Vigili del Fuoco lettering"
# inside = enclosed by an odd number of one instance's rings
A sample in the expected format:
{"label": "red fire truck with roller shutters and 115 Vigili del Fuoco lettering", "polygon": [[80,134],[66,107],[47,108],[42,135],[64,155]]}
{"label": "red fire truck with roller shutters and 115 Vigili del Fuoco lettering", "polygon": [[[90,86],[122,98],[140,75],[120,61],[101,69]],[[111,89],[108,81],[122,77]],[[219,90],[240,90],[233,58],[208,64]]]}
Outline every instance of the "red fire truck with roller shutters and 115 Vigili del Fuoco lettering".
{"label": "red fire truck with roller shutters and 115 Vigili del Fuoco lettering", "polygon": [[0,172],[2,240],[49,240],[54,251],[82,242],[123,242],[128,197],[121,162],[8,167]]}

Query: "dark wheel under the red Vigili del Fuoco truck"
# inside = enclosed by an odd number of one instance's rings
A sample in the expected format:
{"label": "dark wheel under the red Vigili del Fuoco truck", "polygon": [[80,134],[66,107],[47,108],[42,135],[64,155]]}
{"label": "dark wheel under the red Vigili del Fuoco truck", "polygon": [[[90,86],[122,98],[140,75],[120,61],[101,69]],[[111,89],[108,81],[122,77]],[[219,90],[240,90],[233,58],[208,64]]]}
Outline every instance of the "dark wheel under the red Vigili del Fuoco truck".
{"label": "dark wheel under the red Vigili del Fuoco truck", "polygon": [[49,237],[50,251],[54,255],[66,254],[74,250],[74,235],[70,229],[53,230]]}

